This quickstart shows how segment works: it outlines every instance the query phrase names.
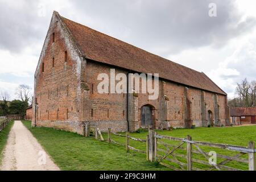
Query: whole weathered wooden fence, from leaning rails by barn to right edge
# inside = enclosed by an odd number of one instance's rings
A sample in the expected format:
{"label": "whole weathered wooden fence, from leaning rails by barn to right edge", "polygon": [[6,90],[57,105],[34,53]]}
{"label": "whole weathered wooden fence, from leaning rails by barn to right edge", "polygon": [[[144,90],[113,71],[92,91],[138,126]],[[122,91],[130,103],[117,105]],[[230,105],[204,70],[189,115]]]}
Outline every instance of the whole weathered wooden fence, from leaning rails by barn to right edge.
{"label": "whole weathered wooden fence, from leaning rails by barn to right edge", "polygon": [[[84,133],[85,137],[89,137],[89,125],[84,125]],[[256,150],[254,142],[249,142],[247,147],[200,142],[192,140],[192,137],[189,135],[187,138],[176,138],[159,135],[154,130],[149,130],[147,138],[144,140],[131,137],[129,132],[126,132],[125,135],[113,133],[110,128],[108,129],[108,139],[104,139],[97,124],[94,127],[94,133],[97,140],[124,146],[127,152],[132,150],[146,154],[147,160],[150,162],[158,162],[175,171],[241,171],[242,169],[240,168],[227,165],[233,162],[237,162],[237,166],[247,166],[249,171],[256,170]],[[112,135],[125,139],[125,142],[117,142],[112,138]],[[146,143],[145,151],[132,147],[130,140]],[[174,144],[174,142],[176,144]],[[207,150],[213,153],[210,154]],[[220,150],[223,150],[225,154],[221,154],[221,152],[219,152]],[[218,151],[218,154],[214,151]],[[231,151],[231,153],[236,152],[237,154],[227,154],[230,153],[227,151]],[[214,158],[212,158],[214,155],[216,155],[216,159],[219,160],[218,162],[217,160],[214,161]],[[203,166],[203,168],[201,166]]]}

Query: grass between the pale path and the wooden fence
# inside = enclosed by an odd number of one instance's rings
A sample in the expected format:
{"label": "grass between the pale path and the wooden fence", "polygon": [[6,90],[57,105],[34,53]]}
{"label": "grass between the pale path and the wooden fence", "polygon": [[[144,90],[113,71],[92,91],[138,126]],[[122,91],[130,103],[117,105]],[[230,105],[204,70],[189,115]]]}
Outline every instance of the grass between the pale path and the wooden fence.
{"label": "grass between the pale path and the wooden fence", "polygon": [[23,124],[61,170],[169,170],[146,162],[144,154],[127,153],[122,146],[84,138],[67,131],[32,128],[30,121],[23,121]]}

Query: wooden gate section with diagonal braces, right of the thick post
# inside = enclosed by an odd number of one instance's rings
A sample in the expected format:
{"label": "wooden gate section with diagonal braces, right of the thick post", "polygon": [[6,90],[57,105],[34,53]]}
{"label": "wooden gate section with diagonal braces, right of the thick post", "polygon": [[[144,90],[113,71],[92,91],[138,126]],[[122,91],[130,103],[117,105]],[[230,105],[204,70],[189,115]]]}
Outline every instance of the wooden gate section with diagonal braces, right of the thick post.
{"label": "wooden gate section with diagonal braces, right of the thick post", "polygon": [[[150,161],[158,162],[163,166],[172,168],[177,171],[242,171],[242,169],[240,168],[226,166],[226,164],[231,162],[238,162],[240,165],[242,163],[247,164],[249,171],[255,171],[256,169],[254,142],[249,142],[248,146],[244,147],[229,144],[194,141],[189,135],[187,136],[187,138],[169,137],[164,135],[158,135],[155,131],[150,131],[150,136],[150,139],[152,140],[150,144],[154,143],[154,146],[152,146],[152,149],[149,151]],[[177,144],[174,145],[167,142],[162,142],[161,140],[164,139],[169,141],[175,141],[177,142]],[[162,145],[165,149],[159,147],[159,145]],[[221,162],[217,163],[212,161],[212,155],[209,155],[209,153],[205,151],[206,149],[203,149],[202,147],[207,147],[208,150],[210,149],[212,154],[216,154],[216,159],[222,159]],[[176,152],[178,150],[184,151],[185,154],[184,152],[183,154],[182,152]],[[238,154],[232,156],[217,154],[217,152],[215,152],[214,150],[233,151]],[[160,155],[159,152],[162,152],[162,155]],[[196,155],[196,157],[194,157],[194,155]],[[245,158],[246,155],[247,158]],[[174,167],[174,165],[170,165],[168,163],[176,164],[176,166],[178,167]],[[201,164],[204,166],[204,168],[194,167],[194,165],[196,164]]]}

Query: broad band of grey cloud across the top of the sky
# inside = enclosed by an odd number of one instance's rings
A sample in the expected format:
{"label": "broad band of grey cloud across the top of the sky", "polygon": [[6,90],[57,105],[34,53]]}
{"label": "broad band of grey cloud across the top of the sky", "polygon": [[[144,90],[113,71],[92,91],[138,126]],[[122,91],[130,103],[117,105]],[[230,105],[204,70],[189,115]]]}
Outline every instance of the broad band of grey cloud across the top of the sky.
{"label": "broad band of grey cloud across the top of the sky", "polygon": [[[39,17],[39,2],[0,0],[1,49],[20,52],[31,44],[43,44],[52,10],[58,7],[47,7],[46,17]],[[211,2],[217,4],[216,18],[208,16]],[[60,9],[61,15],[162,56],[202,46],[219,48],[256,23],[254,18],[241,22],[232,0],[70,0],[68,4]]]}

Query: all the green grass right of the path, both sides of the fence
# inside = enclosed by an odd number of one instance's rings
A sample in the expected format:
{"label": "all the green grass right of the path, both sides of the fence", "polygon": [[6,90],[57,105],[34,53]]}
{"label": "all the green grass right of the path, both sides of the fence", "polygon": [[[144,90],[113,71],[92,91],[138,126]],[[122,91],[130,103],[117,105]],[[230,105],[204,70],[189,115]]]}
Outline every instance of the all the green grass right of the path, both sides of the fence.
{"label": "all the green grass right of the path, both sides of the fence", "polygon": [[[168,170],[168,168],[156,163],[146,162],[146,155],[138,152],[129,151],[128,153],[123,146],[116,144],[108,144],[106,142],[96,141],[94,138],[84,138],[80,135],[69,133],[66,131],[54,130],[45,127],[31,128],[28,121],[23,121],[24,125],[39,140],[39,143],[52,156],[56,164],[63,170]],[[212,127],[212,128],[196,128],[176,129],[172,131],[158,131],[159,134],[172,137],[185,138],[191,135],[193,140],[234,144],[247,146],[250,140],[256,141],[256,126],[244,127]],[[141,133],[132,133],[132,137],[146,139],[147,131]],[[107,138],[107,134],[103,134]],[[112,135],[112,138],[119,142],[125,143],[125,138]],[[171,142],[162,140],[170,144],[178,144],[179,142]],[[146,151],[146,143],[130,140],[130,146]],[[184,146],[185,147],[185,146]],[[164,149],[164,146],[159,148]],[[195,149],[195,148],[193,148]],[[216,151],[217,154],[234,156],[237,152],[222,150],[218,148],[201,147],[205,152]],[[185,154],[183,150],[177,150],[179,154]],[[159,152],[161,154],[161,152]],[[164,155],[164,154],[161,154]],[[193,154],[194,158],[205,160],[204,156]],[[247,156],[242,156],[246,159]],[[179,158],[178,158],[179,159]],[[186,163],[182,158],[180,162]],[[207,162],[207,160],[205,160]],[[217,159],[222,162],[223,159]],[[171,164],[169,162],[166,162]],[[175,166],[176,164],[172,164]],[[194,167],[208,169],[204,164],[193,164]],[[226,166],[247,170],[247,164],[241,162],[230,162]],[[179,167],[179,166],[175,166]]]}

